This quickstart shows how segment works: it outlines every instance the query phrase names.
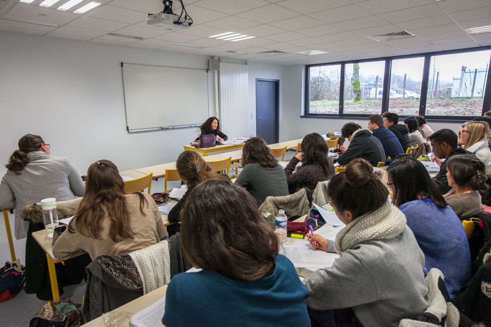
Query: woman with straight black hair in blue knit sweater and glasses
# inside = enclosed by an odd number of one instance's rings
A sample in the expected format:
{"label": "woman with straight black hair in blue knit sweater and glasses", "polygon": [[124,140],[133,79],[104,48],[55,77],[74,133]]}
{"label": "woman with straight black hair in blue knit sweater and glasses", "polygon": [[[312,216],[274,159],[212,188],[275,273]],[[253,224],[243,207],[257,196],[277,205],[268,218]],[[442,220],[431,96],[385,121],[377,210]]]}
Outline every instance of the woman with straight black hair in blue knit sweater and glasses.
{"label": "woman with straight black hair in blue knit sweater and glasses", "polygon": [[470,280],[470,252],[462,222],[417,159],[401,158],[389,166],[387,174],[392,202],[406,216],[406,223],[425,254],[425,275],[438,268],[454,298]]}

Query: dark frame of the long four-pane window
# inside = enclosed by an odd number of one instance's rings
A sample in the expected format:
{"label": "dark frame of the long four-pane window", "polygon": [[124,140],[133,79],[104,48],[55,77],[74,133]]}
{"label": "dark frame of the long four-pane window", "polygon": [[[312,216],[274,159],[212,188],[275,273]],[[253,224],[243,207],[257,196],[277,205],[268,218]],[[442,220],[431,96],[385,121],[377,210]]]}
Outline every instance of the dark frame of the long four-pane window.
{"label": "dark frame of the long four-pane window", "polygon": [[[419,115],[425,116],[425,119],[432,122],[454,122],[454,123],[462,123],[469,121],[469,119],[473,119],[479,116],[440,116],[440,115],[426,115],[426,103],[428,97],[428,79],[430,76],[430,64],[431,57],[445,54],[456,54],[456,53],[465,53],[465,52],[474,52],[474,51],[484,51],[491,50],[491,46],[484,47],[475,47],[475,48],[466,48],[466,49],[458,49],[458,50],[446,50],[446,51],[436,51],[436,52],[425,52],[425,53],[413,53],[406,55],[398,55],[391,57],[380,57],[380,58],[370,58],[370,59],[360,59],[360,60],[346,60],[346,61],[337,61],[337,62],[327,62],[327,63],[318,63],[305,65],[305,83],[304,83],[304,109],[303,115],[301,118],[329,118],[329,119],[365,119],[370,117],[370,114],[345,114],[344,111],[344,82],[345,82],[345,65],[346,64],[356,64],[363,62],[374,62],[374,61],[385,61],[385,71],[383,76],[383,95],[382,95],[382,111],[381,114],[388,111],[389,106],[389,89],[390,89],[390,75],[391,75],[391,66],[392,60],[397,59],[408,59],[408,58],[417,58],[423,57],[423,76],[421,81],[421,97],[419,101]],[[340,78],[340,88],[339,88],[339,111],[337,114],[312,114],[309,113],[310,108],[310,67],[319,67],[319,66],[328,66],[328,65],[341,65],[341,78]],[[483,98],[483,108],[481,110],[481,116],[487,112],[491,111],[491,55],[490,55],[490,63],[488,65],[488,74],[486,77],[486,88],[484,91]],[[405,118],[408,116],[400,116],[401,118]]]}

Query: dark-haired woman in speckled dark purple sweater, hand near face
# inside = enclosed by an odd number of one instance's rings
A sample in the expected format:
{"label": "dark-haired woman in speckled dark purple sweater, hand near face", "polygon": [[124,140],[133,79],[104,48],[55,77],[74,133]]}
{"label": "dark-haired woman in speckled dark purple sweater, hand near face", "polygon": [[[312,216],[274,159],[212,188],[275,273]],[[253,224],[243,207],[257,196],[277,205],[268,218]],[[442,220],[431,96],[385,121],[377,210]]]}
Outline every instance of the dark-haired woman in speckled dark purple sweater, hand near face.
{"label": "dark-haired woman in speckled dark purple sweater, hand near face", "polygon": [[[327,156],[327,144],[320,134],[305,135],[300,147],[303,153],[294,156],[285,168],[289,191],[295,193],[306,186],[314,192],[318,182],[329,180],[334,175],[334,165]],[[300,167],[297,166],[299,162],[302,163]]]}

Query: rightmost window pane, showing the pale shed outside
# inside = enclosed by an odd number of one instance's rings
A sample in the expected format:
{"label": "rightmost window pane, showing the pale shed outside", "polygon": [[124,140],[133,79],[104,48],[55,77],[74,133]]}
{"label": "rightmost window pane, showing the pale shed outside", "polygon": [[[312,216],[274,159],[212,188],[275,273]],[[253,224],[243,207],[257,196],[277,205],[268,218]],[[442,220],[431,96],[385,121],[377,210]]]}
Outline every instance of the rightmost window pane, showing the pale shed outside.
{"label": "rightmost window pane, showing the pale shed outside", "polygon": [[491,50],[434,55],[428,78],[428,116],[481,116]]}

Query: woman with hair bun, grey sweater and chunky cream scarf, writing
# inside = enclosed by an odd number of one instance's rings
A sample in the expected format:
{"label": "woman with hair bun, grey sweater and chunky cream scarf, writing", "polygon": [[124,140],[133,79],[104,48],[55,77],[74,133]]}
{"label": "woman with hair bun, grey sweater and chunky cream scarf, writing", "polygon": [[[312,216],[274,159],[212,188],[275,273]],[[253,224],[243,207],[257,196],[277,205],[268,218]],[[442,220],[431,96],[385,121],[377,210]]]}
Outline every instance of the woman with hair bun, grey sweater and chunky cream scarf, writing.
{"label": "woman with hair bun, grey sweater and chunky cream scarf, writing", "polygon": [[387,201],[386,185],[372,173],[358,158],[332,177],[330,205],[346,227],[335,241],[308,237],[313,247],[340,254],[331,267],[303,281],[310,291],[309,313],[321,326],[335,326],[334,319],[346,312],[333,309],[351,307],[364,327],[397,327],[429,305],[423,252],[404,214]]}

